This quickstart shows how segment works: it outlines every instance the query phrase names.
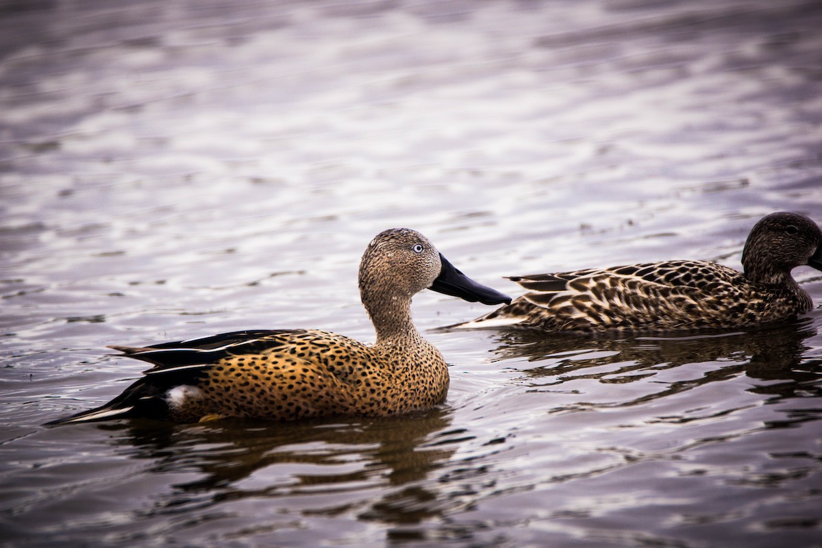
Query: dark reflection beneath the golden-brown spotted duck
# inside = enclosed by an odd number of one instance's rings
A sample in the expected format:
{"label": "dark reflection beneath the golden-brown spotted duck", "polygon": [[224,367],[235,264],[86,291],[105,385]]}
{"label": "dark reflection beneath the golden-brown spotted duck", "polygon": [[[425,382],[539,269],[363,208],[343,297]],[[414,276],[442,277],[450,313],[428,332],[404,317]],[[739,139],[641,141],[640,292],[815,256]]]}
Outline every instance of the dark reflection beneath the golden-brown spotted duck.
{"label": "dark reflection beneath the golden-brown spotted duck", "polygon": [[[130,457],[156,460],[152,474],[196,472],[192,481],[172,485],[171,494],[158,500],[148,516],[286,497],[289,513],[336,515],[356,509],[368,519],[417,523],[441,513],[436,493],[424,480],[464,440],[464,431],[451,429],[450,421],[447,410],[436,409],[339,422],[180,426],[127,421],[99,428],[117,433],[117,443]],[[371,490],[377,485],[399,490],[386,489],[374,498]],[[362,500],[358,491],[365,492]],[[345,492],[349,496],[342,503]],[[334,495],[325,507],[300,502],[322,495]]]}

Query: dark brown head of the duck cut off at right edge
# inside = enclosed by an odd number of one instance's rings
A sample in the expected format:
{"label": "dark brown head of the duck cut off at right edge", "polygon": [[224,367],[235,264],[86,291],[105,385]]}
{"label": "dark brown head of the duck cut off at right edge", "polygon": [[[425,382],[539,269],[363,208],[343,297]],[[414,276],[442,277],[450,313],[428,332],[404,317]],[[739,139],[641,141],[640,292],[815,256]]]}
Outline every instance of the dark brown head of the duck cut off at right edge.
{"label": "dark brown head of the duck cut off at right edge", "polygon": [[742,265],[750,279],[763,283],[780,283],[801,265],[822,270],[822,231],[798,213],[765,215],[750,230]]}

